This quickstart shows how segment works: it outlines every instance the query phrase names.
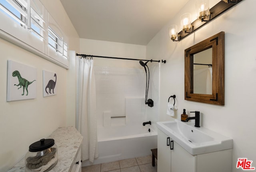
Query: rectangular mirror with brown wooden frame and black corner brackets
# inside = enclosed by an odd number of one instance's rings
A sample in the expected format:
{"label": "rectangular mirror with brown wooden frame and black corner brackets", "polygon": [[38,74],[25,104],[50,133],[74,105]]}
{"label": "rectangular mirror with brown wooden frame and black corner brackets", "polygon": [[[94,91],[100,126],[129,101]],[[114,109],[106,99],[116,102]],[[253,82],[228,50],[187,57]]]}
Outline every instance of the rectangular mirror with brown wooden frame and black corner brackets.
{"label": "rectangular mirror with brown wooden frame and black corner brackets", "polygon": [[185,100],[224,105],[224,32],[185,50]]}

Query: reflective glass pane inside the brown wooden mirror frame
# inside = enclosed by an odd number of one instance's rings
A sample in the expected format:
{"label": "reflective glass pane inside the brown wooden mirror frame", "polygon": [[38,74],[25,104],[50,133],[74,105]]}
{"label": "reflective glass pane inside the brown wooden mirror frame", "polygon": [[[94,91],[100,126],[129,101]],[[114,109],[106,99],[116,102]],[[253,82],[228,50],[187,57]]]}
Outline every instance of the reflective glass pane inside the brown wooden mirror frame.
{"label": "reflective glass pane inside the brown wooden mirror frame", "polygon": [[212,48],[193,55],[194,94],[212,94]]}

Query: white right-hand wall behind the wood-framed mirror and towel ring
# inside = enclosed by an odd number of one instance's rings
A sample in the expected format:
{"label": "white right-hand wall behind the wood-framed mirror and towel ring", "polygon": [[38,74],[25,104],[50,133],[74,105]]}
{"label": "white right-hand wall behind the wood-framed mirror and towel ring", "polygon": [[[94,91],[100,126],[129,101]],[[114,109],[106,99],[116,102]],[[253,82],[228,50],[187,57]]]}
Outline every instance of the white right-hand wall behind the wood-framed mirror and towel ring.
{"label": "white right-hand wall behind the wood-framed mirror and towel ring", "polygon": [[[180,119],[183,108],[187,112],[198,110],[201,126],[233,138],[233,172],[242,171],[236,168],[238,158],[252,160],[255,167],[256,36],[253,31],[256,23],[253,16],[256,1],[243,0],[182,41],[172,42],[168,36],[168,26],[177,24],[179,28],[180,15],[185,12],[195,16],[194,8],[191,8],[194,4],[195,0],[190,0],[147,45],[148,59],[167,60],[160,67],[160,121]],[[184,50],[221,31],[225,32],[225,106],[184,100]],[[172,94],[176,94],[178,105],[174,118],[166,115],[166,103]]]}

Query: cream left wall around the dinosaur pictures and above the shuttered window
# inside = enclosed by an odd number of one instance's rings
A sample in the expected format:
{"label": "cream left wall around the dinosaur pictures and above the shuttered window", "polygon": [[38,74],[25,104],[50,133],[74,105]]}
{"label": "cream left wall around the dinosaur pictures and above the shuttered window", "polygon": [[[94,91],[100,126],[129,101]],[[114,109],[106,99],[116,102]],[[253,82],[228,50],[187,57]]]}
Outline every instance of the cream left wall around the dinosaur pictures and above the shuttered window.
{"label": "cream left wall around the dinosaur pictures and above the shuttered window", "polygon": [[[42,3],[66,32],[70,49],[79,51],[78,34],[60,1],[42,0]],[[72,79],[75,78],[74,57],[70,59],[70,69],[66,70],[1,38],[0,52],[0,171],[5,172],[26,154],[30,144],[48,137],[60,126],[75,125],[73,97],[76,94],[76,82]],[[36,99],[6,102],[7,60],[37,69]],[[42,70],[56,72],[57,95],[42,96]]]}

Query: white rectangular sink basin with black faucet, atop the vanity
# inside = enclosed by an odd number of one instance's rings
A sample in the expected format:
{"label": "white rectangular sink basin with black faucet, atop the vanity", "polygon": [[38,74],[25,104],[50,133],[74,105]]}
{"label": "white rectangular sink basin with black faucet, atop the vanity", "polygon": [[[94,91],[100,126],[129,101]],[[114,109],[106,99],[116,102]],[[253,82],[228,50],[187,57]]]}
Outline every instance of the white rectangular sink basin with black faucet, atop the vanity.
{"label": "white rectangular sink basin with black faucet, atop the vanity", "polygon": [[172,140],[192,155],[232,149],[233,147],[233,140],[231,138],[204,127],[195,127],[192,122],[174,120],[157,122],[156,124],[157,128],[170,136]]}

